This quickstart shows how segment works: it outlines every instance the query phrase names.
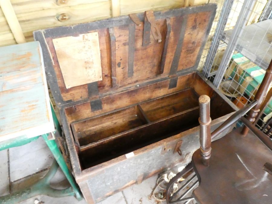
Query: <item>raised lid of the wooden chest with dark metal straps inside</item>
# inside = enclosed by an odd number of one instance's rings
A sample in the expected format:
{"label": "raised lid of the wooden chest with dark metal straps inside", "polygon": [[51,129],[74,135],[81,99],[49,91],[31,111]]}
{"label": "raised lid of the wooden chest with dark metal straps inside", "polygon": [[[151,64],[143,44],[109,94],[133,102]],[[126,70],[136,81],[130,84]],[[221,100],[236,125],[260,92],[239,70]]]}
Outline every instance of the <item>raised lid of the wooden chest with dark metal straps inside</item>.
{"label": "raised lid of the wooden chest with dark metal straps inside", "polygon": [[39,30],[47,81],[58,106],[91,103],[100,96],[137,88],[196,70],[216,4],[145,11],[107,20]]}

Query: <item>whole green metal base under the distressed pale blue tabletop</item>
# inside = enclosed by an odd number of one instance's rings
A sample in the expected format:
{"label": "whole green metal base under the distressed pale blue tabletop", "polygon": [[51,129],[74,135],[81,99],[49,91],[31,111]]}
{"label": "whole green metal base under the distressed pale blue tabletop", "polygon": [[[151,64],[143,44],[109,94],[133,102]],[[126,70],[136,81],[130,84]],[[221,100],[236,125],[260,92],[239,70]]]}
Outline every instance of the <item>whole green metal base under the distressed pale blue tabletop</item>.
{"label": "whole green metal base under the distressed pale blue tabletop", "polygon": [[[59,135],[62,136],[60,124],[57,120],[57,116],[54,112],[52,105],[51,105],[51,110],[52,110],[55,129],[59,133]],[[25,189],[21,189],[19,191],[11,193],[9,195],[0,196],[0,203],[14,204],[14,203],[32,198],[34,196],[38,196],[38,195],[46,195],[46,196],[56,197],[56,198],[66,197],[66,196],[75,196],[78,200],[82,199],[82,194],[79,190],[79,187],[77,186],[73,175],[71,174],[70,170],[67,167],[67,164],[65,163],[65,160],[63,158],[63,155],[60,152],[59,147],[57,146],[57,142],[55,138],[49,138],[49,134],[43,134],[41,136],[43,137],[44,141],[46,142],[47,146],[49,147],[50,151],[52,152],[55,158],[52,166],[50,167],[50,170],[37,183],[31,186],[28,186]],[[8,148],[18,147],[24,144],[28,144],[34,140],[37,140],[39,137],[40,136],[27,138],[26,136],[21,136],[18,138],[2,141],[0,142],[0,151],[8,149]],[[50,187],[50,180],[56,174],[58,167],[60,167],[61,170],[63,171],[71,187],[66,189],[61,189],[61,190],[53,189],[52,187]]]}

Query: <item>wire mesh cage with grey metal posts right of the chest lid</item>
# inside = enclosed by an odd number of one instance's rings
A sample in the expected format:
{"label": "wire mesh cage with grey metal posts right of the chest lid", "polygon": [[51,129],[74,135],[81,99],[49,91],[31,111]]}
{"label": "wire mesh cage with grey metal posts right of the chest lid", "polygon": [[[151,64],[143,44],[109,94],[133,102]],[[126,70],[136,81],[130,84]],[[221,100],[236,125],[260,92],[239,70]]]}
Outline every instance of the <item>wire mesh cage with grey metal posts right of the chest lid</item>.
{"label": "wire mesh cage with grey metal posts right of the chest lid", "polygon": [[[242,108],[254,98],[272,58],[272,0],[216,0],[215,3],[217,15],[199,70]],[[272,126],[271,116],[272,102],[268,102],[257,127],[268,131]]]}

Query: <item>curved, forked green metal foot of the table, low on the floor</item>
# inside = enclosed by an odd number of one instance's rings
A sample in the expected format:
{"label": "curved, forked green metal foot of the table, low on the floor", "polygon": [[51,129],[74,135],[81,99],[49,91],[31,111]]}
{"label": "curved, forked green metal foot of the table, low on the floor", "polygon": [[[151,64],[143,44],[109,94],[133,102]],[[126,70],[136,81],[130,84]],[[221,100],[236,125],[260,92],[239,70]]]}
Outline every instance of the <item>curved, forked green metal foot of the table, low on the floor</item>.
{"label": "curved, forked green metal foot of the table, low on the floor", "polygon": [[31,186],[26,187],[24,190],[16,191],[6,196],[1,196],[0,203],[14,204],[38,195],[46,195],[55,198],[74,196],[75,192],[71,187],[62,190],[53,189],[50,187],[50,180],[56,174],[58,167],[59,165],[57,161],[54,160],[50,170],[41,180]]}

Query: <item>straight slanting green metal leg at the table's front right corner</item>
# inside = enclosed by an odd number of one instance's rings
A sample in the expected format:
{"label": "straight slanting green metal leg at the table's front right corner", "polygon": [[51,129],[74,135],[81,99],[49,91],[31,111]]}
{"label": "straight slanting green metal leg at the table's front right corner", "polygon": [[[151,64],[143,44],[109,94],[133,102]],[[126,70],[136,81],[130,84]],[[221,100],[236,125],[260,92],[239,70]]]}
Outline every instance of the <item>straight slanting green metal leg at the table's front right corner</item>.
{"label": "straight slanting green metal leg at the table's front right corner", "polygon": [[63,173],[66,176],[67,180],[69,181],[70,185],[72,186],[72,189],[73,189],[74,193],[76,194],[76,198],[78,200],[81,200],[82,196],[79,191],[79,188],[76,185],[76,182],[75,182],[72,174],[70,173],[70,171],[64,161],[64,158],[63,158],[63,156],[57,146],[56,141],[55,140],[48,140],[48,134],[43,134],[42,137],[44,138],[44,141],[46,142],[47,146],[51,150],[53,156],[57,160],[57,163],[59,164],[61,170],[63,171]]}

